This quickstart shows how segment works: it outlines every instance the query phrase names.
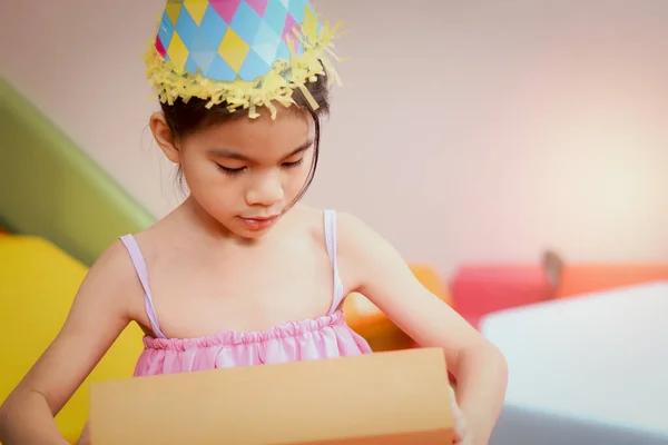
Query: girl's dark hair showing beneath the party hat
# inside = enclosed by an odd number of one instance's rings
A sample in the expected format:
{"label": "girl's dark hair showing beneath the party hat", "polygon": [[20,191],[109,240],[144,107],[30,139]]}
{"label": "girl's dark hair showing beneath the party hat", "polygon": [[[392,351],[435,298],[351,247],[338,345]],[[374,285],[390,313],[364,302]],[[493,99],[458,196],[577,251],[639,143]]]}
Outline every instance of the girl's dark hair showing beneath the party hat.
{"label": "girl's dark hair showing beneath the party hat", "polygon": [[[293,93],[293,99],[295,103],[293,103],[288,108],[288,112],[294,109],[296,105],[297,110],[306,111],[313,118],[315,123],[315,140],[313,148],[313,162],[311,165],[311,170],[308,171],[308,177],[306,178],[306,182],[304,187],[295,198],[295,202],[302,199],[311,182],[313,181],[313,177],[315,176],[315,170],[317,168],[317,159],[320,154],[320,139],[321,139],[321,117],[330,113],[330,91],[328,91],[328,79],[327,75],[317,76],[316,81],[307,82],[306,89],[318,105],[316,110],[310,106],[308,100],[304,96],[304,93],[297,88]],[[160,103],[163,112],[165,113],[165,119],[167,120],[167,125],[171,130],[175,139],[185,138],[188,135],[212,125],[219,125],[228,121],[233,121],[240,118],[248,119],[248,110],[237,109],[236,111],[229,111],[227,109],[227,105],[225,102],[214,106],[212,108],[206,107],[207,101],[198,98],[191,98],[188,102],[184,102],[178,99],[174,102],[174,105]],[[281,112],[283,110],[278,110]],[[261,109],[258,112],[268,112],[268,109]],[[183,180],[183,172],[179,169],[177,171],[179,181]],[[294,202],[293,202],[294,204]]]}

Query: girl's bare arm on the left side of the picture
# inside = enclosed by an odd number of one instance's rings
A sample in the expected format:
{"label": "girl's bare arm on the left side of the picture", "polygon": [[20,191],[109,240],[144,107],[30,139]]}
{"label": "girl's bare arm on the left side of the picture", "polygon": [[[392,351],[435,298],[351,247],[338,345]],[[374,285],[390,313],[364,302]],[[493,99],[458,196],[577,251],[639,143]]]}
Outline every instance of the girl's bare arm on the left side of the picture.
{"label": "girl's bare arm on the left side of the picture", "polygon": [[136,289],[119,241],[91,267],[51,345],[0,406],[0,443],[65,445],[53,417],[128,325]]}

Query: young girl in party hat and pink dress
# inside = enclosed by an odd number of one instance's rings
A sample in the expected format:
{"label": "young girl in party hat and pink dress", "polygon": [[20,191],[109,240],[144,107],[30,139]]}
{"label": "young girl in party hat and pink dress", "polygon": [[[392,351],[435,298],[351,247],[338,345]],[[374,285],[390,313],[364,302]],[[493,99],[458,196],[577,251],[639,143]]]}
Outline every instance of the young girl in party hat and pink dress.
{"label": "young girl in party hat and pink dress", "polygon": [[332,37],[306,0],[167,2],[146,58],[161,103],[149,122],[189,195],[91,267],[0,411],[3,444],[63,444],[53,416],[130,322],[146,333],[135,376],[369,354],[342,314],[352,291],[444,349],[456,441],[488,443],[507,382],[499,350],[360,219],[299,204],[328,111]]}

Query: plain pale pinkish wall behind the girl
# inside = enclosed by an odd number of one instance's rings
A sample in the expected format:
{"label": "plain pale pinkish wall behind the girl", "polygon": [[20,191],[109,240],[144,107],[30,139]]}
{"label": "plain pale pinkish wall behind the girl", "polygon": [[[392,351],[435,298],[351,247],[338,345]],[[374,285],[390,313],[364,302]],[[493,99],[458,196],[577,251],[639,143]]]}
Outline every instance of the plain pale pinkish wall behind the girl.
{"label": "plain pale pinkish wall behind the girl", "polygon": [[[157,214],[177,188],[140,52],[163,3],[0,6],[1,72]],[[314,3],[350,32],[308,202],[444,273],[546,246],[668,260],[668,2]]]}

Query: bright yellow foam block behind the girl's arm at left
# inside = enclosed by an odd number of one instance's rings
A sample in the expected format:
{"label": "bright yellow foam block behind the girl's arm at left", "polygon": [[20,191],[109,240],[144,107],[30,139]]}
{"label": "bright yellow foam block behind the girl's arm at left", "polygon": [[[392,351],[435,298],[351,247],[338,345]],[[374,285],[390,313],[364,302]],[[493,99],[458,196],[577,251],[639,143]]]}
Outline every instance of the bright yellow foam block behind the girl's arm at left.
{"label": "bright yellow foam block behind the girl's arm at left", "polygon": [[[65,322],[87,268],[36,237],[0,237],[0,402],[4,400]],[[129,326],[56,417],[75,443],[88,419],[88,384],[128,377],[141,352],[141,329]],[[71,360],[77,359],[72,352]]]}

